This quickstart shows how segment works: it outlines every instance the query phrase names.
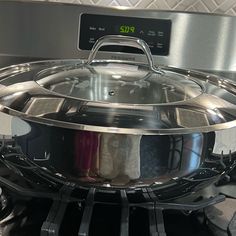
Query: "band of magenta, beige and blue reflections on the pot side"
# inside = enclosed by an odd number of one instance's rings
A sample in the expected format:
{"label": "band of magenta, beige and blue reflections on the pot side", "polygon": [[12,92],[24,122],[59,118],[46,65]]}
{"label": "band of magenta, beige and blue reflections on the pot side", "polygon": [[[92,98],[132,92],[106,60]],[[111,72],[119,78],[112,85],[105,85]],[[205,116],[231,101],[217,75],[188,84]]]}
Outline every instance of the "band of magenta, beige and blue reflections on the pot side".
{"label": "band of magenta, beige and blue reflections on the pot side", "polygon": [[166,182],[201,166],[204,142],[202,133],[141,136],[76,131],[72,158],[82,181],[114,186],[153,179]]}

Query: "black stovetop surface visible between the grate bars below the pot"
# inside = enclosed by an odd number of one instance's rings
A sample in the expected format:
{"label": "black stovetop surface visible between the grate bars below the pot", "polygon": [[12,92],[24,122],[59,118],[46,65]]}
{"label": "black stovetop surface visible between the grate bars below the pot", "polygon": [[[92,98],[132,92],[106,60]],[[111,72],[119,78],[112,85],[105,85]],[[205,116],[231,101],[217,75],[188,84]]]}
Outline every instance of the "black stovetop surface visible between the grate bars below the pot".
{"label": "black stovetop surface visible between the grate bars below the pot", "polygon": [[[54,206],[55,207],[55,206]],[[131,207],[129,212],[129,227],[122,229],[121,208],[118,205],[95,205],[93,207],[89,232],[86,221],[82,223],[85,206],[78,202],[66,206],[60,227],[49,220],[49,212],[53,204],[50,200],[31,199],[16,200],[8,217],[1,220],[1,235],[168,235],[168,236],[210,236],[211,233],[204,221],[203,212],[186,215],[179,211],[164,211],[165,229],[157,232],[155,217],[151,209]],[[55,221],[54,221],[55,222]],[[124,227],[125,228],[125,227]],[[164,227],[163,227],[164,228]],[[126,232],[125,232],[126,231]]]}

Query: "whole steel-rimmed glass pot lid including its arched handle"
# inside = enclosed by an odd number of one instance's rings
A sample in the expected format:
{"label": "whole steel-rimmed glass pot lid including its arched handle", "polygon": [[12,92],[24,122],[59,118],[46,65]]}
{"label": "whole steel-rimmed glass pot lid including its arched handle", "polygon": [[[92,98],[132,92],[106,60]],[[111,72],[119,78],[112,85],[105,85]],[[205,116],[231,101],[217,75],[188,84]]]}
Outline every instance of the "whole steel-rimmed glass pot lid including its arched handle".
{"label": "whole steel-rimmed glass pot lid including its arched handle", "polygon": [[[105,45],[141,49],[148,64],[94,60]],[[0,110],[72,129],[183,134],[236,126],[236,86],[217,76],[155,67],[147,44],[105,36],[87,61],[27,63],[0,71]]]}

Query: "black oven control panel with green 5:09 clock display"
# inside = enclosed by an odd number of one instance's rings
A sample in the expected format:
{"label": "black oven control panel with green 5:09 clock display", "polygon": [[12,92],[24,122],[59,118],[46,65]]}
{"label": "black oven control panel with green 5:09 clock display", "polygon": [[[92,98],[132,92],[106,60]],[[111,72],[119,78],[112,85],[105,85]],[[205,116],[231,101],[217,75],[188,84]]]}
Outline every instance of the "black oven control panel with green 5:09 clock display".
{"label": "black oven control panel with green 5:09 clock display", "polygon": [[[104,35],[127,35],[143,39],[153,55],[169,54],[171,20],[110,15],[82,14],[78,47],[91,50],[95,41]],[[136,48],[105,46],[103,51],[140,53]]]}

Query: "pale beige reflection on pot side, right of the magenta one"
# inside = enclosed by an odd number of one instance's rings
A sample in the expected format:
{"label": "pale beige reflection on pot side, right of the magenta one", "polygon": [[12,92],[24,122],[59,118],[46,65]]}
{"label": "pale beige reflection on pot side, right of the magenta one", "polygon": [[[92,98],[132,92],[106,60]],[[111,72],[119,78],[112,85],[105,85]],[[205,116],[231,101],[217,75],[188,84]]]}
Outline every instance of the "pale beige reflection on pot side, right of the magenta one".
{"label": "pale beige reflection on pot side, right of the magenta one", "polygon": [[113,184],[126,184],[140,177],[140,135],[102,134],[101,177]]}

